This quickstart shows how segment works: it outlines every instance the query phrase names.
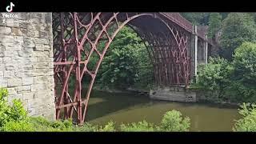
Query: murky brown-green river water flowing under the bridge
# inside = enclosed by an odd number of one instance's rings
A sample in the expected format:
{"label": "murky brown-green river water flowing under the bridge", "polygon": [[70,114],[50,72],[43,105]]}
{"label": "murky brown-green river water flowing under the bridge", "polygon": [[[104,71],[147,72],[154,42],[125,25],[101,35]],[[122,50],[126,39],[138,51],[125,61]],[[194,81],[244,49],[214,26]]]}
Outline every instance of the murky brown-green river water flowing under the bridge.
{"label": "murky brown-green river water flowing under the bridge", "polygon": [[117,124],[146,120],[158,124],[168,110],[179,110],[190,117],[191,131],[231,131],[237,108],[223,106],[156,101],[136,94],[110,94],[94,91],[90,96],[87,121],[104,125],[113,120]]}

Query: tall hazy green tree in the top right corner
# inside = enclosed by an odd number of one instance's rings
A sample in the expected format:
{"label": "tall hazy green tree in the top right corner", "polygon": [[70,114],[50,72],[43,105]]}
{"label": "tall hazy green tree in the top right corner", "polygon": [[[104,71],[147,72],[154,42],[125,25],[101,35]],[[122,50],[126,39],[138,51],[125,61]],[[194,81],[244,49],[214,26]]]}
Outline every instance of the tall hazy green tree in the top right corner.
{"label": "tall hazy green tree in the top right corner", "polygon": [[246,13],[230,13],[223,20],[220,43],[224,58],[231,59],[234,49],[242,42],[254,42],[256,39],[256,25],[254,18]]}

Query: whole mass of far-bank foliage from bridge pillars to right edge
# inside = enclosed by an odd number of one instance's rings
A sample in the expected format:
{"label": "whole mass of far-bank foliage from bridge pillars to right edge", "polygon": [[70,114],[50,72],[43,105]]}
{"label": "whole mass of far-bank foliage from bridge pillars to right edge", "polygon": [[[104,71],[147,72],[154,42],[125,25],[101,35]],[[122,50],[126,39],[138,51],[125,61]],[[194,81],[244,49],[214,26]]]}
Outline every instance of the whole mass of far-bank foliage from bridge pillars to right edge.
{"label": "whole mass of far-bank foliage from bridge pillars to right edge", "polygon": [[256,44],[244,42],[234,53],[234,61],[210,58],[198,69],[198,89],[212,91],[210,97],[233,102],[256,101]]}

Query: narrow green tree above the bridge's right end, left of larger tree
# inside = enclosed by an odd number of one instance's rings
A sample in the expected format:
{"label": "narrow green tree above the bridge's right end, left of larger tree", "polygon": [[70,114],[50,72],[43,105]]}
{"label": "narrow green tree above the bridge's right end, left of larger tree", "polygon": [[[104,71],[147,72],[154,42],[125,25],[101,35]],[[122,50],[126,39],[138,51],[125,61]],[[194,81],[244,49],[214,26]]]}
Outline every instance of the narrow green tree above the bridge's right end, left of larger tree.
{"label": "narrow green tree above the bridge's right end, left of larger tree", "polygon": [[220,30],[222,26],[222,15],[219,13],[210,13],[208,38],[214,38],[214,34]]}

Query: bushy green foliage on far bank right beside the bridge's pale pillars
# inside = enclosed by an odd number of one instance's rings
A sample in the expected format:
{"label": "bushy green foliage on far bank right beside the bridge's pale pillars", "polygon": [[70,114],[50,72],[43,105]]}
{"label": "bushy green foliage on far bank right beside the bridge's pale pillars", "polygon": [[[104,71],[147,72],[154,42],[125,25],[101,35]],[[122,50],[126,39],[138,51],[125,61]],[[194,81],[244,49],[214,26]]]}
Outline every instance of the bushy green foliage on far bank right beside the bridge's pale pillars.
{"label": "bushy green foliage on far bank right beside the bridge's pale pillars", "polygon": [[205,94],[213,101],[226,100],[226,90],[230,86],[230,75],[233,71],[224,58],[210,58],[206,66],[198,67],[198,78],[194,86],[203,91],[210,91],[210,95]]}

